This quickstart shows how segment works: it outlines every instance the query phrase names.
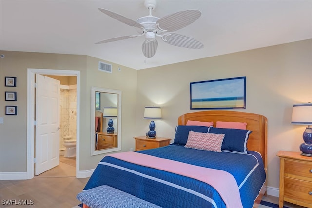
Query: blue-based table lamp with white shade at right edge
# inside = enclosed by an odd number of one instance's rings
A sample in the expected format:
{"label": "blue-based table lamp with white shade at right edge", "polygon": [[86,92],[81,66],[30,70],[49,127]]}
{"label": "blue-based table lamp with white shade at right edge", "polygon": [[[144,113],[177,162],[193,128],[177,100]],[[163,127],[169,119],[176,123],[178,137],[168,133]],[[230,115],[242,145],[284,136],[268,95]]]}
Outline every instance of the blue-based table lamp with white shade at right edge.
{"label": "blue-based table lamp with white shade at right edge", "polygon": [[294,104],[292,107],[292,124],[308,125],[303,132],[304,143],[300,145],[301,155],[312,156],[312,103]]}

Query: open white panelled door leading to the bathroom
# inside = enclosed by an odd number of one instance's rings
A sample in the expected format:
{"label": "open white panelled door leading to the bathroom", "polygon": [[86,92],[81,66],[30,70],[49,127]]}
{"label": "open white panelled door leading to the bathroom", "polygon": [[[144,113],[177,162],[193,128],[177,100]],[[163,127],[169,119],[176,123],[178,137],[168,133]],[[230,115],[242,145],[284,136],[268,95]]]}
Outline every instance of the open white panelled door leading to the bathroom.
{"label": "open white panelled door leading to the bathroom", "polygon": [[59,165],[60,81],[36,74],[35,175]]}

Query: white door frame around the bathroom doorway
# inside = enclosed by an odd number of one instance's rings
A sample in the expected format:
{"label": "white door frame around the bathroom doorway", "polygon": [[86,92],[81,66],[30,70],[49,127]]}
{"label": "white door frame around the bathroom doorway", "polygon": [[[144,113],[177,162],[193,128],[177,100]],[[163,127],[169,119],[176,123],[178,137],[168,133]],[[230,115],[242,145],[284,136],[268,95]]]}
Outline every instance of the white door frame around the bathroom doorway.
{"label": "white door frame around the bathroom doorway", "polygon": [[27,179],[35,176],[35,74],[76,76],[77,79],[77,117],[76,117],[76,177],[79,171],[80,141],[80,71],[57,69],[27,69]]}

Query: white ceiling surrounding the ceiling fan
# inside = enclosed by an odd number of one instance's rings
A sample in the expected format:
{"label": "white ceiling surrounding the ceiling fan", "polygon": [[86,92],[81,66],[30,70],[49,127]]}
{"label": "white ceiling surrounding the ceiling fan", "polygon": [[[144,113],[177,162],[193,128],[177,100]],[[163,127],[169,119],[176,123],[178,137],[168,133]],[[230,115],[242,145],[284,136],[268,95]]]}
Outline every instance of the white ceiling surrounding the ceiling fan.
{"label": "white ceiling surrounding the ceiling fan", "polygon": [[145,58],[144,37],[94,44],[137,34],[98,8],[133,20],[149,14],[143,0],[1,0],[0,49],[89,55],[145,69],[312,38],[311,0],[159,0],[152,12],[159,18],[187,9],[202,12],[176,33],[199,40],[204,48],[180,48],[157,38],[155,56]]}

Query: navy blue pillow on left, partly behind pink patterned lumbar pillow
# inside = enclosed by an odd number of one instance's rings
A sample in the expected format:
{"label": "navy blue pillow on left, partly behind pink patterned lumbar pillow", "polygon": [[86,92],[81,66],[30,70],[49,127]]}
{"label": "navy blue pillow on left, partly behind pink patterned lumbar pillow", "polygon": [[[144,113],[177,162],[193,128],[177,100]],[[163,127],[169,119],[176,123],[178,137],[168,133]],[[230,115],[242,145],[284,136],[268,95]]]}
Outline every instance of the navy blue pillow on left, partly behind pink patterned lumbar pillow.
{"label": "navy blue pillow on left, partly behind pink patterned lumbar pillow", "polygon": [[183,126],[183,125],[176,126],[176,136],[174,139],[174,144],[183,145],[183,146],[186,145],[187,138],[189,136],[190,131],[207,133],[208,127],[207,126]]}

